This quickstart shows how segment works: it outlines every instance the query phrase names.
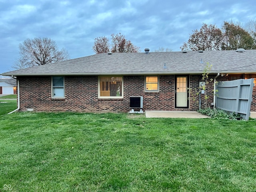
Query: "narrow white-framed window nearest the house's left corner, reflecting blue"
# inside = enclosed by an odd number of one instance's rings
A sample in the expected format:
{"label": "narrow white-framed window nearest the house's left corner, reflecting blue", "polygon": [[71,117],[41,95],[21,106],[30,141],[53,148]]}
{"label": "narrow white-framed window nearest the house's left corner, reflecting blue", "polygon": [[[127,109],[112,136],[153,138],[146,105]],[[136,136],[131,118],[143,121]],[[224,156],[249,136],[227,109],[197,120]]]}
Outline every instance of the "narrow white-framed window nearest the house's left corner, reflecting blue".
{"label": "narrow white-framed window nearest the house's left corner, reflecting blue", "polygon": [[52,98],[64,98],[64,77],[52,77]]}

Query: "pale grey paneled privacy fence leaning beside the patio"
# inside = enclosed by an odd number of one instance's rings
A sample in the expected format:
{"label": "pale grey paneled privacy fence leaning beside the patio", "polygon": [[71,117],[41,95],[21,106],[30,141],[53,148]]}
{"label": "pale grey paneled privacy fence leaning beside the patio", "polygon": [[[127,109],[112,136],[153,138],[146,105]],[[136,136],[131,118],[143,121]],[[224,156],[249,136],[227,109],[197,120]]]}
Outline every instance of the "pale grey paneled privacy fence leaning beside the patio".
{"label": "pale grey paneled privacy fence leaning beside the patio", "polygon": [[254,79],[221,81],[216,86],[216,107],[236,112],[248,120],[252,102]]}

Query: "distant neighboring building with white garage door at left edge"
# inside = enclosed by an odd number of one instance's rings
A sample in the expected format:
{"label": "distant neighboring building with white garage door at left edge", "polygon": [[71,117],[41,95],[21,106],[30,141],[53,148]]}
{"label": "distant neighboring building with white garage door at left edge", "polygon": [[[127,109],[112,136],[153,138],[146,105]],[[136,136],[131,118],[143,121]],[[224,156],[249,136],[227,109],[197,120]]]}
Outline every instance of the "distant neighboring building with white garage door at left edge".
{"label": "distant neighboring building with white garage door at left edge", "polygon": [[0,94],[16,94],[16,79],[0,78]]}

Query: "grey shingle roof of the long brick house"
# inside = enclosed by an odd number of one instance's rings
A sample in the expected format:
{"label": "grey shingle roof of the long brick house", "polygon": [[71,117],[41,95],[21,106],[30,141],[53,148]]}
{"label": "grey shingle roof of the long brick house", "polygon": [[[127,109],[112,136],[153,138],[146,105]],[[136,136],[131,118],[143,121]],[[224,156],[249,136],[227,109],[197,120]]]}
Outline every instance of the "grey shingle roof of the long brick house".
{"label": "grey shingle roof of the long brick house", "polygon": [[2,75],[198,74],[206,62],[212,73],[255,73],[256,50],[102,53]]}

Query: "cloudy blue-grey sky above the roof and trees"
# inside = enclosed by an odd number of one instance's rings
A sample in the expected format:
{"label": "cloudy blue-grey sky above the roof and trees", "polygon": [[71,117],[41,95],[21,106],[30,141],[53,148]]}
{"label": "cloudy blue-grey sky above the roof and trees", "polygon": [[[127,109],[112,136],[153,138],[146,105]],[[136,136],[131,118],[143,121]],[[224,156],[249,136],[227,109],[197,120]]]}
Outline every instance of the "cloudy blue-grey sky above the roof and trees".
{"label": "cloudy blue-grey sky above the roof and trees", "polygon": [[94,54],[94,39],[121,33],[140,47],[180,51],[203,23],[256,20],[255,0],[0,0],[0,74],[12,69],[18,45],[48,37],[70,58]]}

